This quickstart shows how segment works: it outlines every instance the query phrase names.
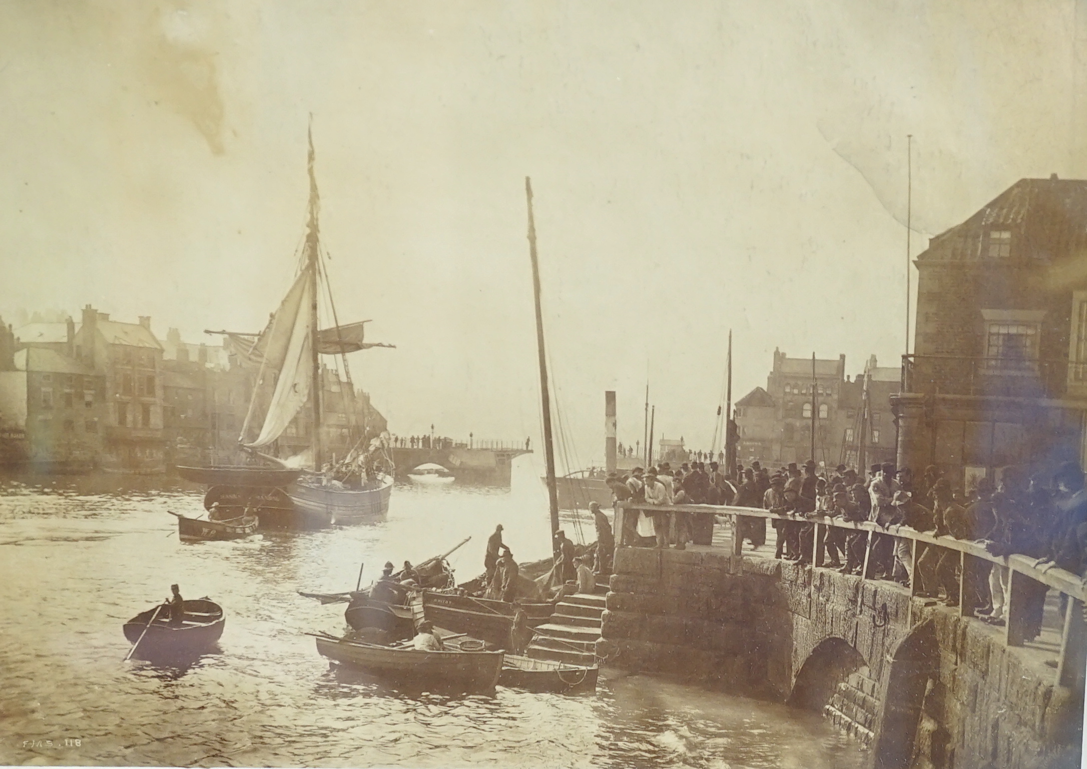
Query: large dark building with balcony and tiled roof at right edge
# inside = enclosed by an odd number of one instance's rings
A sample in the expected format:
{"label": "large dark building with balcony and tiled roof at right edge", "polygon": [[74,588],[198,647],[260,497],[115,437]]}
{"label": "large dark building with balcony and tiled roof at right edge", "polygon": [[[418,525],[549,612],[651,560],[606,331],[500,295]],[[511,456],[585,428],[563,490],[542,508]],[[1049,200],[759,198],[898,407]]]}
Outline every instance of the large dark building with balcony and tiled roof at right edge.
{"label": "large dark building with balcony and tiled roof at right edge", "polygon": [[969,487],[1011,463],[1083,461],[1087,181],[1021,179],[932,238],[914,354],[896,399],[898,461]]}

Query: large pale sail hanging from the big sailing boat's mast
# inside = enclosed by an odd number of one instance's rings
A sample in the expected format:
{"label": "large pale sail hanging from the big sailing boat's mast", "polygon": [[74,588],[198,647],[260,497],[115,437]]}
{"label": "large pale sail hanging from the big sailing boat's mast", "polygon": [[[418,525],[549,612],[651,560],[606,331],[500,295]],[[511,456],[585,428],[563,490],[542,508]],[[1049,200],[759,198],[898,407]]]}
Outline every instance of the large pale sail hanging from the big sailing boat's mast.
{"label": "large pale sail hanging from the big sailing boat's mast", "polygon": [[[313,359],[310,352],[310,302],[313,297],[313,281],[308,272],[302,272],[290,287],[275,321],[266,335],[264,360],[261,363],[261,379],[276,373],[275,392],[268,405],[261,434],[249,448],[261,448],[279,437],[287,425],[310,396],[313,375]],[[253,402],[255,404],[255,393]],[[253,409],[250,408],[242,426],[246,435]]]}

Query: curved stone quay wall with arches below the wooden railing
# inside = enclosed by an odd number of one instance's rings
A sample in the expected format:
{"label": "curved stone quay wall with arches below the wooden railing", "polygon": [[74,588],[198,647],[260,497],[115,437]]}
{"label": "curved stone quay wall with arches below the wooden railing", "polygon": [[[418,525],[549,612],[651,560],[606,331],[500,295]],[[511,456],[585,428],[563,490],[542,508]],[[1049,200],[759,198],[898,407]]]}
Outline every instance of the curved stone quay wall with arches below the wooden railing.
{"label": "curved stone quay wall with arches below the wooden railing", "polygon": [[[775,517],[748,508],[671,509]],[[616,511],[616,531],[632,513]],[[973,543],[945,538],[941,546],[949,544],[964,559],[1008,562]],[[741,555],[732,539],[723,545],[619,546],[601,655],[627,670],[719,680],[821,710],[869,745],[879,769],[1079,766],[1078,578],[1030,572],[1028,559],[1013,556],[1010,620],[996,628],[967,616],[969,606],[913,597],[896,583]],[[1016,637],[1016,585],[1027,572],[1050,584],[1051,604],[1061,592],[1072,596],[1063,627],[1030,643]]]}

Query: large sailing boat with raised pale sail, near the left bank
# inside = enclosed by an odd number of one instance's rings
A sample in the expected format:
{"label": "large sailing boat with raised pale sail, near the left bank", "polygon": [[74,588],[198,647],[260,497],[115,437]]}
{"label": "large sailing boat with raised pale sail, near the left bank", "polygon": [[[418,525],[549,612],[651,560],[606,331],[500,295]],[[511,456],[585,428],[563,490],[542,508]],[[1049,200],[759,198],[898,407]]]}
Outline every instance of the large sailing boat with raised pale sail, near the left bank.
{"label": "large sailing boat with raised pale sail, near the left bank", "polygon": [[[310,525],[354,523],[379,519],[388,512],[393,470],[388,451],[389,436],[388,433],[373,436],[364,446],[363,441],[367,436],[365,433],[361,436],[352,435],[353,425],[350,424],[349,418],[348,434],[352,442],[349,443],[351,447],[338,460],[335,456],[329,460],[322,435],[324,367],[321,365],[320,356],[340,356],[347,371],[348,352],[372,347],[391,347],[391,345],[365,342],[363,330],[367,321],[339,325],[330,290],[328,299],[336,325],[326,330],[318,327],[317,305],[322,278],[327,283],[327,274],[320,243],[321,198],[314,174],[312,131],[308,166],[310,200],[307,234],[298,275],[290,289],[265,330],[255,335],[255,338],[251,334],[213,333],[225,334],[232,349],[239,358],[250,364],[260,364],[257,385],[253,387],[239,435],[241,448],[251,456],[265,459],[278,468],[300,471],[297,480],[287,486],[286,491],[293,503],[295,512],[301,517],[303,523]],[[348,404],[347,411],[350,414],[354,411],[354,386],[349,371],[346,384],[349,397],[345,402]],[[311,446],[287,459],[267,454],[274,450],[273,447],[280,435],[296,421],[307,405],[312,409]],[[262,421],[261,412],[263,412]],[[259,431],[255,430],[258,425]],[[191,480],[197,480],[196,476],[215,476],[221,483],[228,485],[252,485],[249,481],[258,473],[266,473],[267,469],[267,467],[178,468],[178,471]]]}

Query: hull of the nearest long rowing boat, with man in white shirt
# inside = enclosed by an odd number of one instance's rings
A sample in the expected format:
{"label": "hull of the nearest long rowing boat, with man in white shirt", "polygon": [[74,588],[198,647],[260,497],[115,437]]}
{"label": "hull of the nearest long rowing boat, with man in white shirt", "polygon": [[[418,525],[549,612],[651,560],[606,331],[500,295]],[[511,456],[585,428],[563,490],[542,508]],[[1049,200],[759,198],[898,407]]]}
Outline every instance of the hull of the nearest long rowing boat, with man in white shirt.
{"label": "hull of the nearest long rowing boat, with man in white shirt", "polygon": [[317,652],[328,659],[396,682],[420,682],[489,691],[502,671],[501,652],[421,652],[317,635]]}

